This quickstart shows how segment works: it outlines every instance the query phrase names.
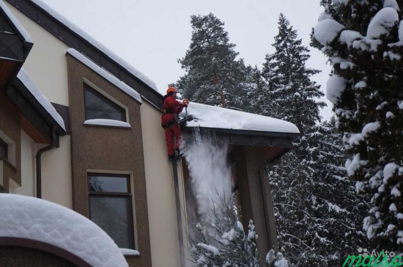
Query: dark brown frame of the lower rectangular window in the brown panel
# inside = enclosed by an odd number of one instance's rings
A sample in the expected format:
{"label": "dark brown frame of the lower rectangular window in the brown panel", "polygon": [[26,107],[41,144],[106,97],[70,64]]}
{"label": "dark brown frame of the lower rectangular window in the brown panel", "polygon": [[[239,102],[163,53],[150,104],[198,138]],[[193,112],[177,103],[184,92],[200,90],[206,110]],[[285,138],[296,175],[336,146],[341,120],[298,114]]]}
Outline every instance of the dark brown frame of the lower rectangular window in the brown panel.
{"label": "dark brown frame of the lower rectangular window in the brown panel", "polygon": [[[124,192],[95,192],[89,191],[88,181],[90,176],[101,176],[101,177],[125,177],[127,181],[127,193]],[[119,197],[125,198],[127,201],[127,224],[129,227],[129,247],[121,249],[135,249],[135,231],[134,231],[134,216],[133,216],[133,194],[131,193],[131,181],[130,175],[127,174],[116,174],[116,173],[87,173],[87,191],[88,191],[88,218],[91,220],[91,201],[90,197]],[[92,220],[91,220],[92,221]]]}

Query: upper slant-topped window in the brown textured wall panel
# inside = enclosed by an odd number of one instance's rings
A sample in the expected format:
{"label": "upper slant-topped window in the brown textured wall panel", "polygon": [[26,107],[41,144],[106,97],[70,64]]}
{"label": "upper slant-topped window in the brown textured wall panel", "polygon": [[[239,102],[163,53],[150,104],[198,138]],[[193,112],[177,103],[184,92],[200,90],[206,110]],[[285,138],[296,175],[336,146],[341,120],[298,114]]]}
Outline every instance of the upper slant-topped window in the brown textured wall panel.
{"label": "upper slant-topped window in the brown textured wall panel", "polygon": [[85,120],[113,119],[126,121],[126,111],[87,84],[84,86]]}

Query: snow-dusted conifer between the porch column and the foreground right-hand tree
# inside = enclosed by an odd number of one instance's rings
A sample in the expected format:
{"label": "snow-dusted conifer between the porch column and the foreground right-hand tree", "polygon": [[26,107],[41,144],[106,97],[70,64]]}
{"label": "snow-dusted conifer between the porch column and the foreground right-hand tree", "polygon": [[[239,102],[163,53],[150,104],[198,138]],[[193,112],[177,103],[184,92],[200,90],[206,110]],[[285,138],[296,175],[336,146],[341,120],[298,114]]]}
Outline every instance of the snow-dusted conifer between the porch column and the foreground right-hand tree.
{"label": "snow-dusted conifer between the porch column and the foreground right-hand tree", "polygon": [[334,123],[333,118],[305,132],[301,144],[309,148],[307,155],[298,159],[295,147],[269,176],[279,244],[291,266],[341,266],[358,246],[367,247],[361,222],[368,201],[345,175]]}

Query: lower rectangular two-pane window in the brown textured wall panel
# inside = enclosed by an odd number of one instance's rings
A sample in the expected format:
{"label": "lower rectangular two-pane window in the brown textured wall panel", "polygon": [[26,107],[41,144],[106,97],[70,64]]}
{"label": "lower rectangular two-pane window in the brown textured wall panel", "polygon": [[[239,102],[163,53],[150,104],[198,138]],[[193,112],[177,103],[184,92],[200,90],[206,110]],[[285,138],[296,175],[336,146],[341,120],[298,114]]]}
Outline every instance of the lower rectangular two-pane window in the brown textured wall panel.
{"label": "lower rectangular two-pane window in the brown textured wall panel", "polygon": [[89,218],[120,248],[135,249],[129,175],[88,174]]}

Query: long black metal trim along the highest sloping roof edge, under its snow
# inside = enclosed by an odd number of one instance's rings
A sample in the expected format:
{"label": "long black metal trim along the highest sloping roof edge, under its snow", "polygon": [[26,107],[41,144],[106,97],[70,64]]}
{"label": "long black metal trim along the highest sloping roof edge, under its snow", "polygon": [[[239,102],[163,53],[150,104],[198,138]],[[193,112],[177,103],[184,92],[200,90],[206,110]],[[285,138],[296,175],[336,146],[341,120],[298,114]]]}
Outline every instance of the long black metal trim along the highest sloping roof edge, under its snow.
{"label": "long black metal trim along the highest sloping roof edge, under its snow", "polygon": [[25,16],[46,29],[60,41],[75,48],[77,51],[86,55],[98,66],[104,68],[118,79],[122,80],[139,94],[144,96],[156,107],[162,107],[163,96],[134,76],[124,66],[110,58],[106,53],[98,49],[95,45],[89,43],[83,36],[64,25],[57,18],[49,14],[46,10],[32,2],[31,0],[6,0],[9,4],[17,8]]}

